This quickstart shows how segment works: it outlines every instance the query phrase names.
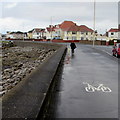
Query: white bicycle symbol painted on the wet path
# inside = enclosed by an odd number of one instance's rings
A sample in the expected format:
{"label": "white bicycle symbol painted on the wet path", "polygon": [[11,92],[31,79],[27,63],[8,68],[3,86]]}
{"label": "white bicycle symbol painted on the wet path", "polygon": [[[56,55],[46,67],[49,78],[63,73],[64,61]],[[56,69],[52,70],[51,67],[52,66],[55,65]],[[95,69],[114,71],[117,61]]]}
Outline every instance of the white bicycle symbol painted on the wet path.
{"label": "white bicycle symbol painted on the wet path", "polygon": [[87,92],[95,92],[95,91],[102,91],[105,93],[112,92],[112,90],[109,87],[104,86],[103,84],[99,84],[98,87],[94,87],[90,85],[89,83],[83,82],[83,84],[86,84],[87,87],[85,87],[85,90]]}

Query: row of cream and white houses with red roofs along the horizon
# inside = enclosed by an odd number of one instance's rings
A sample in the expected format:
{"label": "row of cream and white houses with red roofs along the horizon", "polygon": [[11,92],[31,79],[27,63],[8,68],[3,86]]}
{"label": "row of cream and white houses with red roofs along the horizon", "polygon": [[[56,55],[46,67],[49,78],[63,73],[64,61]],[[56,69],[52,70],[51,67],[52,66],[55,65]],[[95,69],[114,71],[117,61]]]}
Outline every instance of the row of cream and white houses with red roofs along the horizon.
{"label": "row of cream and white houses with red roofs along the horizon", "polygon": [[86,25],[78,26],[72,21],[64,21],[58,25],[34,28],[28,32],[7,32],[6,38],[12,39],[61,39],[61,40],[113,40],[118,39],[120,29],[111,28],[104,35],[98,34]]}

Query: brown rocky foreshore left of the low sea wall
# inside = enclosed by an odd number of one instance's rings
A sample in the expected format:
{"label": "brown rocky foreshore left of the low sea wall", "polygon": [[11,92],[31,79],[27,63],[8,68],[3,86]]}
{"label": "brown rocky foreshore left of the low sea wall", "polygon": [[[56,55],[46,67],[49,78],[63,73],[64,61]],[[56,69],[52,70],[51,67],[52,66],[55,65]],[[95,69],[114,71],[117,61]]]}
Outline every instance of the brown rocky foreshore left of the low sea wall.
{"label": "brown rocky foreshore left of the low sea wall", "polygon": [[55,51],[55,49],[19,46],[4,48],[2,51],[0,96],[10,91]]}

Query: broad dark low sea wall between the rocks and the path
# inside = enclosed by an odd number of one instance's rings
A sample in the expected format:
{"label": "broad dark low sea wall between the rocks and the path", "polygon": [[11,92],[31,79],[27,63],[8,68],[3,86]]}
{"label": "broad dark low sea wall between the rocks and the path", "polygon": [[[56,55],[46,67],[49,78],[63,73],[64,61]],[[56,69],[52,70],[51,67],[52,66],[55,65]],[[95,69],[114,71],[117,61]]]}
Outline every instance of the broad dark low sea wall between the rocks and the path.
{"label": "broad dark low sea wall between the rocks and the path", "polygon": [[56,74],[66,46],[42,43],[21,43],[16,45],[34,46],[34,48],[54,48],[55,52],[27,75],[2,97],[2,118],[7,119],[37,119]]}

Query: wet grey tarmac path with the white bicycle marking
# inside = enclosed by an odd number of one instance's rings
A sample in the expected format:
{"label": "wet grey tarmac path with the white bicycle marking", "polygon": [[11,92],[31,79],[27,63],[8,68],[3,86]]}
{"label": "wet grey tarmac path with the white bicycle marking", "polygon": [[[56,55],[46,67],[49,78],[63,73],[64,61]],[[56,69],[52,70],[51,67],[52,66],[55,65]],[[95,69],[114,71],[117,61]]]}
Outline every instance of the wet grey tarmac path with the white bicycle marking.
{"label": "wet grey tarmac path with the white bicycle marking", "polygon": [[68,52],[55,98],[53,118],[118,118],[118,62],[90,46]]}

